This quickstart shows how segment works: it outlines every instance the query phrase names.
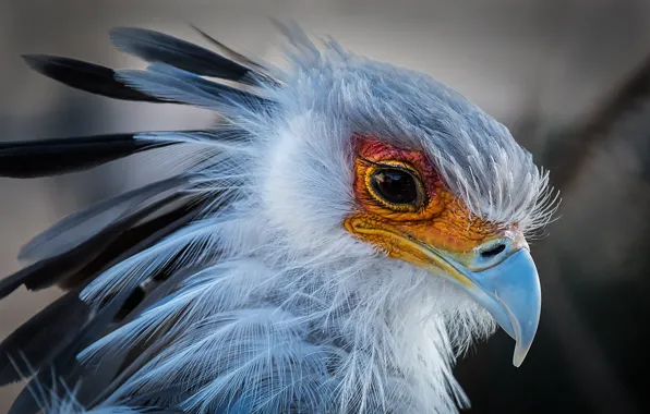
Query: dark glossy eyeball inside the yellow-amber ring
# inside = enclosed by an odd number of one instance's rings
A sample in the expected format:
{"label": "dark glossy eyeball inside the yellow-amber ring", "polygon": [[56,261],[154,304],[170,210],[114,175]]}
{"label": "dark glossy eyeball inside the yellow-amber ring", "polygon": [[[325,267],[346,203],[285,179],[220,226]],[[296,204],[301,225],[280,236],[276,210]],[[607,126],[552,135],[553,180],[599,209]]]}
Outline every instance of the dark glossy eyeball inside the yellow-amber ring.
{"label": "dark glossy eyeball inside the yellow-amber ring", "polygon": [[410,172],[398,168],[381,168],[371,176],[372,190],[390,204],[416,205],[420,200],[419,182]]}

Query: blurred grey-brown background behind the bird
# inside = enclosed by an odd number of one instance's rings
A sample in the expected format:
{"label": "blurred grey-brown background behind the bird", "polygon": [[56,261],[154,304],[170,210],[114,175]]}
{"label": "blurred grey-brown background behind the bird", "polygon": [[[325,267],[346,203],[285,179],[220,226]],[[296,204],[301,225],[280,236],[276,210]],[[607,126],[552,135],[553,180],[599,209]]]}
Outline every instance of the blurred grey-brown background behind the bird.
{"label": "blurred grey-brown background behind the bird", "polygon": [[[532,242],[544,306],[521,368],[498,333],[457,367],[471,413],[650,411],[650,1],[0,0],[0,139],[202,127],[210,113],[112,101],[27,70],[21,53],[143,63],[107,33],[137,25],[203,44],[190,26],[277,61],[268,16],[432,74],[508,125],[552,170],[559,221]],[[0,275],[57,219],[148,181],[137,158],[47,180],[0,179]],[[0,302],[0,339],[59,294]],[[0,389],[7,412],[20,385]]]}

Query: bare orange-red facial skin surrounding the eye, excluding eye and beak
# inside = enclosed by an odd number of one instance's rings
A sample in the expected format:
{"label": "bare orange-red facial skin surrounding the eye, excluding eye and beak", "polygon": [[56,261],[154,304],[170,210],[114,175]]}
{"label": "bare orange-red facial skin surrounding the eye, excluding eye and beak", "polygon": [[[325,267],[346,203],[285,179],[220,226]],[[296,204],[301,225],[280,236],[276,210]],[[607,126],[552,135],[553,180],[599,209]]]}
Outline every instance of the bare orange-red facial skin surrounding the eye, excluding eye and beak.
{"label": "bare orange-red facial skin surrounding the eye, excluding eye and beak", "polygon": [[[396,148],[375,137],[357,134],[354,195],[359,210],[345,220],[348,231],[372,243],[389,257],[431,266],[431,258],[411,244],[445,252],[468,263],[472,249],[513,230],[482,220],[469,212],[436,173],[426,156]],[[373,193],[370,180],[378,168],[407,169],[421,182],[424,197],[417,205],[390,205]],[[436,264],[436,267],[443,267]]]}

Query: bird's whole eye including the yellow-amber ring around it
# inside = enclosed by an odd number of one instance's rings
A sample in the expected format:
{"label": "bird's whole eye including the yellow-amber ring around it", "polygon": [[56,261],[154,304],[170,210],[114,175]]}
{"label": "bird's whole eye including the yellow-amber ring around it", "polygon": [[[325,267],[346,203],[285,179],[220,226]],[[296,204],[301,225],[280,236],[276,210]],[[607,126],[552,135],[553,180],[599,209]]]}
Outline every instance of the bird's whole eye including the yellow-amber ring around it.
{"label": "bird's whole eye including the yellow-amber ring around it", "polygon": [[373,198],[397,211],[417,211],[426,198],[420,175],[402,162],[375,163],[368,171],[365,184]]}

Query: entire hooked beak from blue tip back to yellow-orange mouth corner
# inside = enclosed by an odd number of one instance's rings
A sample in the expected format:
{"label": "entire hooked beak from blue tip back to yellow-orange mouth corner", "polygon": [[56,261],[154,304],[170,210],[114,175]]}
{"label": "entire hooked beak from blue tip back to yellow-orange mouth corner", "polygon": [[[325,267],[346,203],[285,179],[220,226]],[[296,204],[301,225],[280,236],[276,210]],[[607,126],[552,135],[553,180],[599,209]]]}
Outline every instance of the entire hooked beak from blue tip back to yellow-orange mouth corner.
{"label": "entire hooked beak from blue tip back to yellow-orange mouth corner", "polygon": [[[388,255],[444,273],[460,285],[516,341],[513,364],[520,366],[538,329],[542,295],[538,271],[528,244],[518,232],[452,253],[408,236],[402,230],[380,222],[351,218],[349,231],[368,240],[384,240]],[[425,232],[423,232],[425,233]]]}

